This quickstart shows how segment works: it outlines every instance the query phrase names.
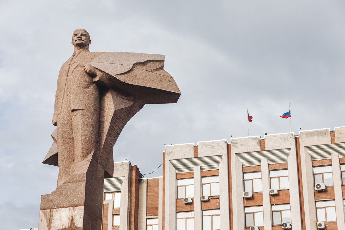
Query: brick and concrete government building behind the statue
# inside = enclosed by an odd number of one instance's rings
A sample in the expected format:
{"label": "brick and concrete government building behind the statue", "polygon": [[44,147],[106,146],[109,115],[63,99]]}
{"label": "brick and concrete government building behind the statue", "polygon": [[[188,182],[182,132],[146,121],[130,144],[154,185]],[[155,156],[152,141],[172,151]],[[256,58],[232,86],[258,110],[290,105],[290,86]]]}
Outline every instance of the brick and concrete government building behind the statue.
{"label": "brick and concrete government building behind the statue", "polygon": [[166,146],[104,182],[103,230],[345,230],[345,127]]}

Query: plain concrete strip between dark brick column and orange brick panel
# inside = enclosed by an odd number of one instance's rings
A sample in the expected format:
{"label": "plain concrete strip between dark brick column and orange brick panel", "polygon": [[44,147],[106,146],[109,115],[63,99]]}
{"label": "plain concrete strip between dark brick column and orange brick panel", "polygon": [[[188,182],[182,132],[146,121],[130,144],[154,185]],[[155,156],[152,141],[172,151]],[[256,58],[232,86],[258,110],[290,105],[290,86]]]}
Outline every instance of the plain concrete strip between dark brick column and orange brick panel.
{"label": "plain concrete strip between dark brick column and orange brick panel", "polygon": [[139,180],[138,229],[146,229],[147,179]]}

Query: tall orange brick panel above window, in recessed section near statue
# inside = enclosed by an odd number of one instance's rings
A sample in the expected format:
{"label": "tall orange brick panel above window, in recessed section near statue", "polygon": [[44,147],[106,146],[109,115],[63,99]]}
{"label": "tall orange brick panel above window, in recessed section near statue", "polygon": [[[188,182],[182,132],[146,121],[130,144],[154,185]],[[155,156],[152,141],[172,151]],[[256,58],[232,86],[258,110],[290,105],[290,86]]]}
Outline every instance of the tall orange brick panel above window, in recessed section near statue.
{"label": "tall orange brick panel above window, in recessed section near statue", "polygon": [[158,186],[159,179],[147,179],[146,216],[158,216]]}

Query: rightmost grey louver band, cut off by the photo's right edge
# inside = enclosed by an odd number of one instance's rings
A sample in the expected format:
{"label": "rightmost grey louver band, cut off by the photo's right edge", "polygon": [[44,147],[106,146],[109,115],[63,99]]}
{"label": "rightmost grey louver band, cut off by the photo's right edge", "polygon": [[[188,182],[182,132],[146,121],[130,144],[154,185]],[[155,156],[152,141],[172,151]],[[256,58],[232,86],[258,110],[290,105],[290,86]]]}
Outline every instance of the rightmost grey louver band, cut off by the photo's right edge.
{"label": "rightmost grey louver band, cut off by the photo's right edge", "polygon": [[332,153],[338,153],[339,158],[345,157],[345,142],[306,146],[305,149],[312,160],[331,159]]}

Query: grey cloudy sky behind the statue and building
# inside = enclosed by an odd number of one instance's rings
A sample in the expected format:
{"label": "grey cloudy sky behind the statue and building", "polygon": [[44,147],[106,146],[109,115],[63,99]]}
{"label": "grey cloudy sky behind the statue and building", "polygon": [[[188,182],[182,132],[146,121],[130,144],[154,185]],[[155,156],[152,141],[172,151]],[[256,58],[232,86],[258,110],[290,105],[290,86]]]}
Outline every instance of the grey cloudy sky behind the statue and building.
{"label": "grey cloudy sky behind the statue and building", "polygon": [[56,188],[58,168],[41,162],[76,28],[90,33],[90,51],[165,54],[179,101],[146,105],[114,147],[115,161],[143,174],[168,140],[246,136],[246,108],[251,136],[288,132],[288,102],[296,133],[345,125],[344,1],[169,2],[0,2],[1,229],[36,228],[40,195]]}

